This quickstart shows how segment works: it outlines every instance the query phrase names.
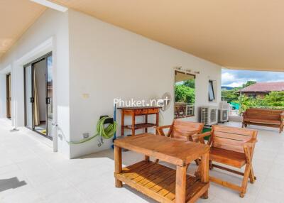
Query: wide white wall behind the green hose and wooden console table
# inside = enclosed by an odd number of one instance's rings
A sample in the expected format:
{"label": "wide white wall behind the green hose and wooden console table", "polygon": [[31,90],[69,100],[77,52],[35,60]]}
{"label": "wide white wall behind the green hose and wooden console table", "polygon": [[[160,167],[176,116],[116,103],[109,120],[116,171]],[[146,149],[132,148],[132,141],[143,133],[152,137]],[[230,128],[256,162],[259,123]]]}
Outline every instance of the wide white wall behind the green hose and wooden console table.
{"label": "wide white wall behind the green hose and wooden console table", "polygon": [[[200,71],[196,75],[196,112],[209,104],[208,80],[217,84],[220,101],[221,67],[193,55],[157,43],[141,35],[69,11],[70,22],[70,139],[82,133],[93,135],[100,115],[113,116],[113,99],[151,99],[164,92],[174,95],[173,67]],[[89,95],[87,98],[84,95]],[[118,112],[119,113],[119,112]],[[120,124],[120,114],[117,115]],[[190,118],[198,121],[197,115]],[[163,113],[161,124],[173,121],[173,105]],[[120,135],[120,125],[118,126]],[[110,148],[111,141],[98,148],[97,139],[71,146],[77,157]]]}

